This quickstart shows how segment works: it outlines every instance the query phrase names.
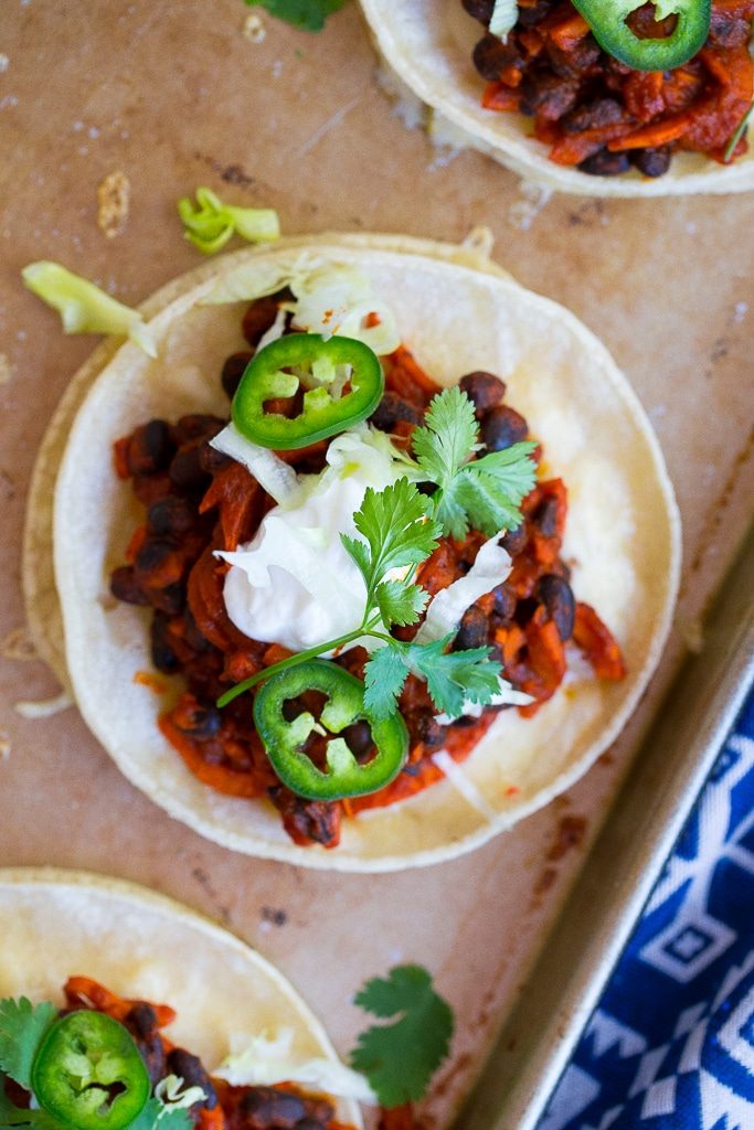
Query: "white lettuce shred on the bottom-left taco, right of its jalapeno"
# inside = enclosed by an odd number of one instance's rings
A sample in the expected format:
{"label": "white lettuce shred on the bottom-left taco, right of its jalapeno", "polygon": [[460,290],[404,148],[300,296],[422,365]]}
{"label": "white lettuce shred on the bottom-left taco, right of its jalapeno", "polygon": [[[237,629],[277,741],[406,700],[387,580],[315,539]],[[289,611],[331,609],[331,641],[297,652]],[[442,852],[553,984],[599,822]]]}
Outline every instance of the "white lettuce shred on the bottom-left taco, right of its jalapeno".
{"label": "white lettuce shred on the bottom-left taco, right of its jalapeno", "polygon": [[213,1075],[234,1087],[274,1086],[288,1080],[328,1095],[376,1105],[376,1096],[363,1075],[324,1057],[296,1059],[293,1041],[294,1031],[288,1027],[279,1028],[275,1035],[267,1032],[252,1037],[235,1034],[231,1038],[231,1054]]}

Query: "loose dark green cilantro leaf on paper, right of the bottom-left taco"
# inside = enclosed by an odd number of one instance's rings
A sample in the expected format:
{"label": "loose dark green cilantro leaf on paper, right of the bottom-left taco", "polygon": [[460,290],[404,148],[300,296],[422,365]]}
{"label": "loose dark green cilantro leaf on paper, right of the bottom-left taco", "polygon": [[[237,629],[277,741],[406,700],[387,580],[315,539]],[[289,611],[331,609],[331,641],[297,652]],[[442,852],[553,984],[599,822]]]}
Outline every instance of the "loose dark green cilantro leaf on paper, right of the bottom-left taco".
{"label": "loose dark green cilantro leaf on paper, right of the bottom-left taco", "polygon": [[385,979],[367,981],[356,1003],[382,1019],[397,1019],[359,1035],[352,1067],[366,1076],[383,1106],[418,1101],[448,1054],[453,1034],[450,1006],[419,965],[399,965]]}

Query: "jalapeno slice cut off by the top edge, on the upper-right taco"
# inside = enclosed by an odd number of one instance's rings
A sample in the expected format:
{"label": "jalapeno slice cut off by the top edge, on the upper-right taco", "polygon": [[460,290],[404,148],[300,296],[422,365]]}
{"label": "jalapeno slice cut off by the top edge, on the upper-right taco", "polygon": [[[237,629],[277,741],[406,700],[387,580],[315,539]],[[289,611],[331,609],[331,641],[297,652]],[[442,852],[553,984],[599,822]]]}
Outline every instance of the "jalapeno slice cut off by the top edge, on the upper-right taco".
{"label": "jalapeno slice cut off by the top edge, on the upper-right taco", "polygon": [[600,47],[634,70],[673,70],[688,62],[704,45],[710,31],[710,0],[658,0],[657,19],[677,16],[666,38],[641,40],[626,16],[644,0],[573,0]]}

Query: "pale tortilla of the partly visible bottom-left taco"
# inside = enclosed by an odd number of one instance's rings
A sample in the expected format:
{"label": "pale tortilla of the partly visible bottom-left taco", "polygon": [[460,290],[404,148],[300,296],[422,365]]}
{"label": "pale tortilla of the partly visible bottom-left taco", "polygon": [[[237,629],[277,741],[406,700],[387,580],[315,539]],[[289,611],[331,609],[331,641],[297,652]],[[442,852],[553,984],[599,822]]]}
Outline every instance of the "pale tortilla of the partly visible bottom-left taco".
{"label": "pale tortilla of the partly visible bottom-left taco", "polygon": [[[235,1034],[294,1033],[296,1060],[337,1062],[322,1025],[286,979],[239,938],[179,903],[103,876],[0,869],[0,997],[63,1001],[72,975],[127,998],[170,1005],[170,1038],[211,1072]],[[338,1118],[362,1120],[350,1099]]]}

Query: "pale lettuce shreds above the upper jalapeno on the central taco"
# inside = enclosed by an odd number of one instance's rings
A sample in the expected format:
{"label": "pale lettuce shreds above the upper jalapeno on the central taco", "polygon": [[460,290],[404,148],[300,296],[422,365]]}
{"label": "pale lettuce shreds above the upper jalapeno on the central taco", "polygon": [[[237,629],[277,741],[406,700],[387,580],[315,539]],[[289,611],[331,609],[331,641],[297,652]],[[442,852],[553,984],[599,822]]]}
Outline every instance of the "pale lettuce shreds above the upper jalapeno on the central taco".
{"label": "pale lettuce shreds above the upper jalapeno on the central taco", "polygon": [[324,263],[306,252],[291,263],[243,263],[218,279],[202,303],[253,302],[286,286],[294,301],[283,310],[293,314],[296,329],[355,338],[381,357],[400,345],[392,311],[374,297],[362,271],[348,263]]}

